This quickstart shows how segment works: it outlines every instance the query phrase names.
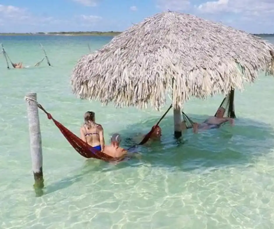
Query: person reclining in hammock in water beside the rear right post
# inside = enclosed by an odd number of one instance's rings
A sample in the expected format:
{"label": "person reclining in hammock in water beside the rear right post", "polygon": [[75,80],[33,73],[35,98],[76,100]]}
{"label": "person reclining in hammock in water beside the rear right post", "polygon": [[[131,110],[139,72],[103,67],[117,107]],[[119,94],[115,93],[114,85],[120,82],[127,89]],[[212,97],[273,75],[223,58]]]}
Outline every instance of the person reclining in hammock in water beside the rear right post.
{"label": "person reclining in hammock in water beside the rear right post", "polygon": [[[218,128],[221,124],[223,124],[225,122],[229,122],[231,124],[231,126],[233,126],[234,125],[234,119],[224,118],[225,111],[226,110],[223,107],[220,107],[217,110],[216,117],[215,116],[209,117],[208,119],[206,119],[202,123],[196,123],[195,122],[193,124],[193,132],[198,133],[198,129],[208,130],[208,129]],[[183,131],[187,129],[186,123],[184,121],[181,123],[181,129]]]}

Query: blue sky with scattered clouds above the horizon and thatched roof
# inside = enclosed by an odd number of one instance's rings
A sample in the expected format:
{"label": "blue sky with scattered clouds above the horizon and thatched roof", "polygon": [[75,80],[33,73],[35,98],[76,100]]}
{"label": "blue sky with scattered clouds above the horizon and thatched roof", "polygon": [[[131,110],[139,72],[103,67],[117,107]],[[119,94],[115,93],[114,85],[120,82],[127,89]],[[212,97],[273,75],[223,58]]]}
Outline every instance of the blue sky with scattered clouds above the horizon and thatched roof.
{"label": "blue sky with scattered clouds above the horizon and thatched roof", "polygon": [[274,33],[274,0],[0,0],[0,33],[124,31],[166,10]]}

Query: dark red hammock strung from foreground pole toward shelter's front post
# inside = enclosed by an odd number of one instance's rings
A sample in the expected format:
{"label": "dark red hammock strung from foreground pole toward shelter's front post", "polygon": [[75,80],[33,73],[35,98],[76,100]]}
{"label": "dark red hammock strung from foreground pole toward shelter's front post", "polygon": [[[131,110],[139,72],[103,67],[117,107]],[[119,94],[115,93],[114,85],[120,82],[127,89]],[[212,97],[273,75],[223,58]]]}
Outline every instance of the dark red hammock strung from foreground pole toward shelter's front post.
{"label": "dark red hammock strung from foreground pole toward shelter's front post", "polygon": [[[99,150],[94,149],[94,147],[90,146],[89,144],[87,144],[86,142],[84,142],[81,138],[79,138],[78,136],[76,136],[75,134],[73,134],[68,128],[66,128],[65,126],[63,126],[61,123],[59,123],[57,120],[55,120],[52,115],[50,113],[48,113],[41,104],[37,104],[38,108],[40,108],[41,110],[43,110],[43,112],[45,112],[45,114],[47,114],[48,119],[52,119],[52,121],[54,122],[54,124],[59,128],[59,130],[61,131],[61,133],[64,135],[64,137],[68,140],[68,142],[71,144],[71,146],[83,157],[85,158],[96,158],[96,159],[100,159],[100,160],[104,160],[104,161],[122,161],[124,160],[124,158],[113,158],[110,155],[107,155],[106,153],[103,153]],[[147,133],[147,135],[145,135],[144,139],[138,144],[138,145],[143,145],[145,144],[148,139],[150,138],[151,134],[154,131],[154,128],[156,126],[158,126],[158,124],[160,123],[160,121],[164,118],[164,116],[167,114],[167,112],[171,109],[172,106],[170,106],[168,108],[168,110],[166,111],[166,113],[161,117],[161,119],[157,122],[157,124],[152,127],[152,129],[150,130],[149,133]],[[134,147],[134,146],[133,146]],[[132,148],[132,147],[131,147]]]}

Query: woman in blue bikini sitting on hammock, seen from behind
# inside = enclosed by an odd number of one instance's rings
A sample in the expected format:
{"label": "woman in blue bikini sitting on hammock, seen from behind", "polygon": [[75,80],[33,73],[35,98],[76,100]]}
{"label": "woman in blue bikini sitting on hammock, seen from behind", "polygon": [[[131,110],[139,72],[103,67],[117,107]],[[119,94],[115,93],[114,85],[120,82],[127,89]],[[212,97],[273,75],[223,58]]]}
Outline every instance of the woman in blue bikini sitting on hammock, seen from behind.
{"label": "woman in blue bikini sitting on hammock, seen from behind", "polygon": [[87,111],[84,114],[84,121],[84,125],[80,128],[81,139],[96,150],[104,151],[104,130],[95,122],[95,113]]}

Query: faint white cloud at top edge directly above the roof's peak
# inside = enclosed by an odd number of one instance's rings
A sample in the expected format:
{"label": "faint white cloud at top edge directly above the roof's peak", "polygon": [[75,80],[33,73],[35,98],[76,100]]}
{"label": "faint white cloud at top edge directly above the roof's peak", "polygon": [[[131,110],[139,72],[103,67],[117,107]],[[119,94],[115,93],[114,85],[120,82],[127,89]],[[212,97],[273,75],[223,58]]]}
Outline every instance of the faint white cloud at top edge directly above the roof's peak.
{"label": "faint white cloud at top edge directly above the roof's peak", "polygon": [[161,10],[185,10],[189,8],[189,0],[156,0],[157,8]]}

